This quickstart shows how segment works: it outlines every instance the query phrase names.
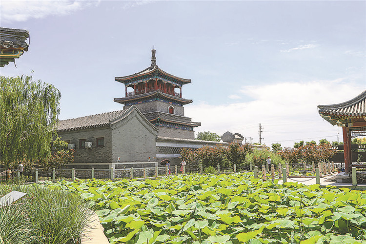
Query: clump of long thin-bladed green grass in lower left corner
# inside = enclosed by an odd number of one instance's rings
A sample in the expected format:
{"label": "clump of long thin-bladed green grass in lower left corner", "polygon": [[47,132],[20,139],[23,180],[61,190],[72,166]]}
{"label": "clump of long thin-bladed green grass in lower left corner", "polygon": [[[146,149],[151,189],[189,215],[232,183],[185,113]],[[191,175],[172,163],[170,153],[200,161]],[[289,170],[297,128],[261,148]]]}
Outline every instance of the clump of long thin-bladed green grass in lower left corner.
{"label": "clump of long thin-bladed green grass in lower left corner", "polygon": [[80,243],[91,211],[78,195],[41,185],[8,185],[0,195],[12,190],[33,199],[0,208],[0,244]]}

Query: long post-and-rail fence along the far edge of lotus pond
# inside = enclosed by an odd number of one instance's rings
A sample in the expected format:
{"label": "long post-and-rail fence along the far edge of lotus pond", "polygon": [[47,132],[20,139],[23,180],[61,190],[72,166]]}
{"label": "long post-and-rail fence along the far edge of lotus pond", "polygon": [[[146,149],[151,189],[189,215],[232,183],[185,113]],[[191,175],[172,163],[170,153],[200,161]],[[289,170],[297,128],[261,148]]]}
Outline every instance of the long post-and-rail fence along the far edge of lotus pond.
{"label": "long post-and-rail fence along the far edge of lotus pond", "polygon": [[[273,164],[272,164],[273,165]],[[288,168],[286,165],[282,165],[282,168]],[[317,164],[304,164],[300,163],[293,165],[292,170],[299,169],[302,172],[313,172],[315,174],[315,167],[318,167],[320,172],[324,175],[330,172],[336,171],[336,168],[343,166],[340,163],[318,163]],[[366,174],[366,164],[352,164],[355,167],[357,173]],[[210,167],[212,169],[212,166]],[[264,167],[265,168],[265,167]],[[217,165],[215,167],[218,173],[236,173],[236,172],[252,172],[255,169],[261,171],[260,167],[252,167],[249,165],[239,165],[236,164],[230,167],[220,167]],[[263,170],[263,168],[262,168]],[[288,169],[287,169],[288,170]],[[271,174],[273,177],[281,177],[281,168],[276,169],[276,173],[272,170],[264,172],[266,174]],[[178,174],[202,174],[205,170],[202,164],[196,165],[186,165],[180,167],[178,165],[168,167],[150,167],[150,168],[123,168],[123,169],[53,169],[53,170],[41,170],[41,169],[30,169],[24,172],[19,172],[16,170],[9,173],[8,171],[3,171],[0,173],[0,183],[2,182],[12,182],[21,180],[22,182],[38,182],[38,181],[60,181],[60,180],[75,180],[75,179],[100,179],[100,180],[122,180],[122,179],[143,179],[143,178],[155,178],[167,175],[178,175]],[[263,172],[262,172],[263,174]],[[289,172],[287,172],[289,174]]]}

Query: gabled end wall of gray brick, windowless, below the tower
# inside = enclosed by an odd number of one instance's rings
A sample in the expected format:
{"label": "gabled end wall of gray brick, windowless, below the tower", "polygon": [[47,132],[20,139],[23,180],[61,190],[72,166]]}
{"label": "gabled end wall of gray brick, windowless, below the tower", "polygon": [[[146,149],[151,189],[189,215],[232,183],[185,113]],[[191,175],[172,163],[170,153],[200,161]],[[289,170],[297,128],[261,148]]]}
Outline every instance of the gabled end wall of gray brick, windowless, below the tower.
{"label": "gabled end wall of gray brick, windowless, below the tower", "polygon": [[112,160],[120,162],[146,162],[156,157],[158,131],[137,111],[115,124],[112,129]]}

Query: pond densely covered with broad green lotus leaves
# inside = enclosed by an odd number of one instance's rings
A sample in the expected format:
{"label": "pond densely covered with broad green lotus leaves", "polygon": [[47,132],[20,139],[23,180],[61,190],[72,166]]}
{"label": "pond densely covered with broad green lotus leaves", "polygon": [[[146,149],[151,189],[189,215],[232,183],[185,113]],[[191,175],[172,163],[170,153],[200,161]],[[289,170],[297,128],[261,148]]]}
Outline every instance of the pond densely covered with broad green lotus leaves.
{"label": "pond densely covered with broad green lotus leaves", "polygon": [[52,185],[91,201],[111,244],[366,243],[366,193],[347,188],[239,173]]}

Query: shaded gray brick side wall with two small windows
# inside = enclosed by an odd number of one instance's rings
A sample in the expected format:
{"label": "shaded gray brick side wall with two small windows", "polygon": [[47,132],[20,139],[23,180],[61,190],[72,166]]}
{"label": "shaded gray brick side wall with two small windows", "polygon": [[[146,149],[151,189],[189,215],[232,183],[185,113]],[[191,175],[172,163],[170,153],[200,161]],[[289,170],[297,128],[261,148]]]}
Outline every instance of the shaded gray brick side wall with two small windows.
{"label": "shaded gray brick side wall with two small windows", "polygon": [[[60,132],[59,137],[63,141],[70,141],[75,144],[75,163],[110,163],[112,160],[112,137],[110,127],[85,129],[70,132]],[[96,147],[96,138],[104,138],[104,146]],[[92,142],[92,149],[79,148],[79,140],[86,139]]]}

